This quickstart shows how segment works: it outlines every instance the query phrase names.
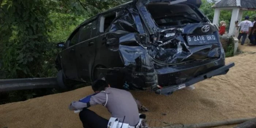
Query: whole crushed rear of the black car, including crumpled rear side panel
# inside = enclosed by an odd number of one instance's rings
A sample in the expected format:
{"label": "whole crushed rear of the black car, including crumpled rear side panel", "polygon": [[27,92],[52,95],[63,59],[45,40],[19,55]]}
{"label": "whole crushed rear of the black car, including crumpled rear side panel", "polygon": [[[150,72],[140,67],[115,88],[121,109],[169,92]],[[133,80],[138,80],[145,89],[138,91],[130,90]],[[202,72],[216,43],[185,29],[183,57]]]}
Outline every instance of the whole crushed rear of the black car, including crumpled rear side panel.
{"label": "whole crushed rear of the black car, including crumpled rear side panel", "polygon": [[234,66],[225,65],[218,29],[197,8],[198,0],[182,1],[138,0],[138,12],[129,6],[113,22],[107,44],[119,51],[124,67],[101,69],[112,85],[166,94]]}

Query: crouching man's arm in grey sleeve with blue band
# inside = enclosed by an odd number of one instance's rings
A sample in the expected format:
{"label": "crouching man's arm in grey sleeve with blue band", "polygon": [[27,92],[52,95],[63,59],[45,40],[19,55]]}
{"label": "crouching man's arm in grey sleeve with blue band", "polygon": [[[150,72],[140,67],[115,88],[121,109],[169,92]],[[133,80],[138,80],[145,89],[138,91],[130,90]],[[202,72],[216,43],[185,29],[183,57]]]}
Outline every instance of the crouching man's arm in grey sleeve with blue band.
{"label": "crouching man's arm in grey sleeve with blue band", "polygon": [[106,93],[92,94],[80,99],[79,101],[71,102],[69,110],[81,110],[83,108],[89,108],[92,105],[106,103]]}

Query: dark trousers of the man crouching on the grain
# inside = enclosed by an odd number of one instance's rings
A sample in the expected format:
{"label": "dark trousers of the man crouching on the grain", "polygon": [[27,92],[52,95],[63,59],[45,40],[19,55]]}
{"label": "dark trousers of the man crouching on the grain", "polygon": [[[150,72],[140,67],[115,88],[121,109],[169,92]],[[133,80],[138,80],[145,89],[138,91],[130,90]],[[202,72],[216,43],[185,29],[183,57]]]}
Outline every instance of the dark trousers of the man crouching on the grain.
{"label": "dark trousers of the man crouching on the grain", "polygon": [[97,115],[89,109],[83,109],[79,113],[84,128],[107,128],[108,120]]}

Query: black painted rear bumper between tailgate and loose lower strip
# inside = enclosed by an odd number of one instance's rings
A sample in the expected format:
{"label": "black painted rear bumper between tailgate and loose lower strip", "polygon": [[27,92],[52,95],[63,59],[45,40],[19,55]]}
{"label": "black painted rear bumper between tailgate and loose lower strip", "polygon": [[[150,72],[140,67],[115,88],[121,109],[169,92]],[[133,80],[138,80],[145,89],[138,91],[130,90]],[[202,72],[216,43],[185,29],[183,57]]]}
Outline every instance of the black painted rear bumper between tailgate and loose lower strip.
{"label": "black painted rear bumper between tailgate and loose lower strip", "polygon": [[212,70],[218,69],[225,65],[224,58],[215,60],[197,61],[182,66],[171,66],[155,69],[158,78],[158,85],[165,87],[187,82],[199,75],[203,75]]}

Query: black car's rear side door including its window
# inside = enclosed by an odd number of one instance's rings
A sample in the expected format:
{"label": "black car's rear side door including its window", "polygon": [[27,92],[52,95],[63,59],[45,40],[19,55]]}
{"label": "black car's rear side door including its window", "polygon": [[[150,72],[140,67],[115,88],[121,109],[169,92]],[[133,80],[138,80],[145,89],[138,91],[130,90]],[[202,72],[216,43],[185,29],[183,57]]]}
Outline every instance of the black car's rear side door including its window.
{"label": "black car's rear side door including its window", "polygon": [[80,27],[79,44],[76,47],[78,57],[78,77],[82,81],[90,81],[90,74],[95,59],[97,35],[97,19],[85,23]]}

